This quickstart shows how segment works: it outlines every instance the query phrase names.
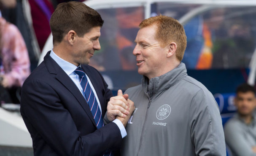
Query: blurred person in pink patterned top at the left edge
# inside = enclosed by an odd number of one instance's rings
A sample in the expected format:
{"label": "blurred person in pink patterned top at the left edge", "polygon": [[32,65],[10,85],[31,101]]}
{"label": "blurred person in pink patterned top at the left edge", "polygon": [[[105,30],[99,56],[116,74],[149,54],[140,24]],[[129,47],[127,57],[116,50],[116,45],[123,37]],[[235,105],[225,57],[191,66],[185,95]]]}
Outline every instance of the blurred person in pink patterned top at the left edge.
{"label": "blurred person in pink patterned top at the left edge", "polygon": [[[0,4],[15,5],[5,0],[1,0]],[[29,74],[30,60],[24,39],[15,25],[0,16],[0,86],[2,90],[11,93],[12,99],[11,101],[3,99],[2,103],[19,103],[19,99],[16,99],[16,91],[19,91],[18,88]]]}

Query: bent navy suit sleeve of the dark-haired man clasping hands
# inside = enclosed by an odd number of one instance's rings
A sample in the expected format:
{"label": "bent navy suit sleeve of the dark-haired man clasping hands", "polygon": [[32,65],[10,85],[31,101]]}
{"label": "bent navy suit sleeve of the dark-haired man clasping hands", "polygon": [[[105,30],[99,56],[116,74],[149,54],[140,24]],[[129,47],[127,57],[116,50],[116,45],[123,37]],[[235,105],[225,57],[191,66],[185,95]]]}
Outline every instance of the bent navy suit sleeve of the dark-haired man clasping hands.
{"label": "bent navy suit sleeve of the dark-haired man clasping hands", "polygon": [[98,156],[121,143],[115,123],[82,136],[54,88],[42,81],[24,83],[21,114],[28,129],[35,129],[31,135],[40,135],[60,156]]}

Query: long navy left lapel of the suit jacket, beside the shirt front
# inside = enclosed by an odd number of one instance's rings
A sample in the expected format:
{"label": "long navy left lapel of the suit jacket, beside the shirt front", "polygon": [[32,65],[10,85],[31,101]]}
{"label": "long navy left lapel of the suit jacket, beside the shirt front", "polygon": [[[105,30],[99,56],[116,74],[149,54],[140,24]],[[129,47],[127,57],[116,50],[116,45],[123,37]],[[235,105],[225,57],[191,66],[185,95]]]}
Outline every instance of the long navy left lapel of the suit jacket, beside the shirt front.
{"label": "long navy left lapel of the suit jacket, beside the shirt front", "polygon": [[50,57],[49,53],[46,55],[46,57],[44,57],[44,60],[49,72],[51,74],[56,74],[57,80],[60,83],[62,83],[62,85],[64,85],[70,91],[70,93],[73,94],[73,96],[75,96],[81,107],[83,107],[84,111],[89,116],[94,126],[97,128],[89,105],[87,104],[86,100],[84,99],[84,96],[81,94],[77,86],[75,86],[75,83],[65,73],[65,71],[62,70],[62,68],[60,68],[59,65]]}

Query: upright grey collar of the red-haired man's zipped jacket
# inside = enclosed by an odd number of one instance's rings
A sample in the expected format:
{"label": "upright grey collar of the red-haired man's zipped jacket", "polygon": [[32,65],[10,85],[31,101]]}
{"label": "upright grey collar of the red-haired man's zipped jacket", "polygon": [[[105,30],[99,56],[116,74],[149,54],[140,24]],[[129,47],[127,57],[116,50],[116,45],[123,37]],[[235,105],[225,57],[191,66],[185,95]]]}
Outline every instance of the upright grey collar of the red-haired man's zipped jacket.
{"label": "upright grey collar of the red-haired man's zipped jacket", "polygon": [[146,94],[149,94],[150,97],[152,97],[154,96],[154,94],[164,91],[170,88],[171,86],[175,85],[186,76],[186,66],[184,63],[181,62],[180,65],[178,65],[178,67],[159,77],[151,78],[150,80],[148,80],[146,76],[143,76],[143,91]]}

